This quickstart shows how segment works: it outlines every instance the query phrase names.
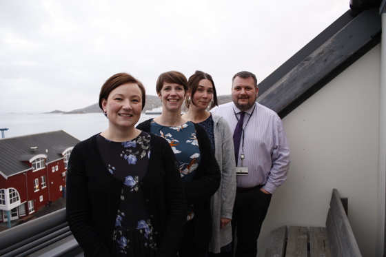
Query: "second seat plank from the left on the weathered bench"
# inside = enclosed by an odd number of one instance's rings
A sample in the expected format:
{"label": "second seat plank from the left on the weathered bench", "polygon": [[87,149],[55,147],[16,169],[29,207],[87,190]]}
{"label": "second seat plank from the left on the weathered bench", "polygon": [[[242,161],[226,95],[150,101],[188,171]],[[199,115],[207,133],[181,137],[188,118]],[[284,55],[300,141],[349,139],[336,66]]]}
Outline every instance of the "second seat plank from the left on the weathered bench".
{"label": "second seat plank from the left on the weathered bench", "polygon": [[285,257],[307,257],[307,227],[290,227]]}

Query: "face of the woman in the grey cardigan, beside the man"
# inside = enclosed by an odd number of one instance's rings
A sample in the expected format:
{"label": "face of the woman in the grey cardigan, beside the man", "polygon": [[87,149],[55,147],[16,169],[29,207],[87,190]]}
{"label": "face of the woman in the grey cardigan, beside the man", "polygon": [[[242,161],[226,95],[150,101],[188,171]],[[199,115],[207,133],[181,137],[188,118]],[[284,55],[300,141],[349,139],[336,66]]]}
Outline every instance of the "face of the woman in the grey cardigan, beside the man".
{"label": "face of the woman in the grey cardigan, beside the man", "polygon": [[[199,110],[206,110],[213,99],[213,85],[209,79],[201,79],[199,85],[194,92],[190,108],[197,108]],[[194,103],[193,103],[194,102]]]}

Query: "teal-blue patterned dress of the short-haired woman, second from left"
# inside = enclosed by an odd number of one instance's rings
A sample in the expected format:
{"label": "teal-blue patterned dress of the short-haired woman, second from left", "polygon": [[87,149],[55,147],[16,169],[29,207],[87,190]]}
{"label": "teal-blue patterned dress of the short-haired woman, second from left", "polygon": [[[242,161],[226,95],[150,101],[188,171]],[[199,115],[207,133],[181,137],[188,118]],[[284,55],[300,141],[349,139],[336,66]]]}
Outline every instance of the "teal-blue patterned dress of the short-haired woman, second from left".
{"label": "teal-blue patterned dress of the short-haired woman, second from left", "polygon": [[[169,142],[170,147],[176,156],[179,163],[181,179],[183,183],[192,181],[197,167],[201,161],[201,152],[199,148],[199,141],[196,138],[196,129],[194,123],[188,121],[187,123],[168,127],[159,125],[154,120],[150,123],[150,132],[162,136]],[[193,205],[187,206],[186,220],[194,218]]]}

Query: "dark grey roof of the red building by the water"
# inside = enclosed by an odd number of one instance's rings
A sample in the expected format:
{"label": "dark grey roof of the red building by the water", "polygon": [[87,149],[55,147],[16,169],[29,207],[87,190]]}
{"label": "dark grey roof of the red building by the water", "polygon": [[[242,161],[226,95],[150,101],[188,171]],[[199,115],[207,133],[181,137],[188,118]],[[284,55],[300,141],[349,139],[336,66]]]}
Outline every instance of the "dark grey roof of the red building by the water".
{"label": "dark grey roof of the red building by the water", "polygon": [[[0,173],[12,176],[31,167],[23,161],[46,156],[47,163],[63,158],[63,151],[79,143],[63,130],[0,139]],[[36,147],[36,149],[34,149]]]}

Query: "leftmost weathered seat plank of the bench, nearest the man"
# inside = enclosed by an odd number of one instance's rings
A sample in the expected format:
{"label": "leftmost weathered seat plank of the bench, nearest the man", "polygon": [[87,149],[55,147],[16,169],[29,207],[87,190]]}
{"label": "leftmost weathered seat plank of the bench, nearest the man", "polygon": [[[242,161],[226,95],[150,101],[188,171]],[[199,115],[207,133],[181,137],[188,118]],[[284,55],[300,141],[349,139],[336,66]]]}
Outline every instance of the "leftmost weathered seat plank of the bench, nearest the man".
{"label": "leftmost weathered seat plank of the bench, nearest the man", "polygon": [[267,249],[265,249],[265,257],[283,257],[286,238],[287,226],[272,230],[270,234],[270,241]]}

